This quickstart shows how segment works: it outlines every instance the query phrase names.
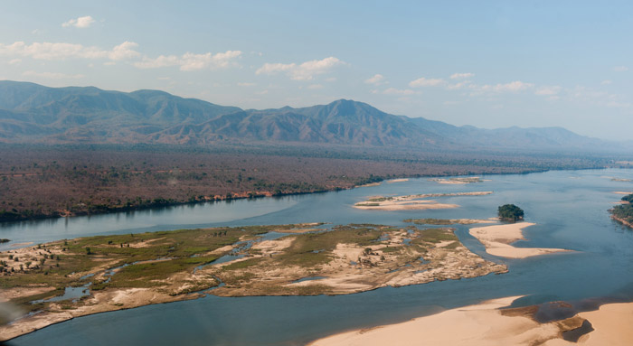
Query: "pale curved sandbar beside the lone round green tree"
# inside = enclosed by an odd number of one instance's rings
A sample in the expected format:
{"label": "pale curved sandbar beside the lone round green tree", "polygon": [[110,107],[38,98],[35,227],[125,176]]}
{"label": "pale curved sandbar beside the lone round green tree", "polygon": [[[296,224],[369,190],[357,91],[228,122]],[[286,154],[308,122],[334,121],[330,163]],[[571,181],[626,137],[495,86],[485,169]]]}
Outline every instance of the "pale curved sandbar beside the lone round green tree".
{"label": "pale curved sandbar beside the lone round green tree", "polygon": [[490,255],[505,258],[525,258],[554,252],[570,251],[564,248],[515,248],[512,243],[524,240],[523,229],[533,226],[530,222],[517,222],[470,229],[471,236],[477,238]]}

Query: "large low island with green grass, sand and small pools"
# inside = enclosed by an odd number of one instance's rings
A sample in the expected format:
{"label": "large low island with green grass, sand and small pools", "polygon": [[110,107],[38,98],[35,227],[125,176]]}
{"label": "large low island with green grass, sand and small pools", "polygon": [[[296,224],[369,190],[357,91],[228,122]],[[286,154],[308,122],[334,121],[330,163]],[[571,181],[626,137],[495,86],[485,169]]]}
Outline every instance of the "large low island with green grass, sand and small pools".
{"label": "large low island with green grass, sand and small pools", "polygon": [[344,295],[507,271],[452,229],[320,223],[76,238],[5,251],[0,261],[0,296],[21,311],[0,326],[0,340],[203,294]]}

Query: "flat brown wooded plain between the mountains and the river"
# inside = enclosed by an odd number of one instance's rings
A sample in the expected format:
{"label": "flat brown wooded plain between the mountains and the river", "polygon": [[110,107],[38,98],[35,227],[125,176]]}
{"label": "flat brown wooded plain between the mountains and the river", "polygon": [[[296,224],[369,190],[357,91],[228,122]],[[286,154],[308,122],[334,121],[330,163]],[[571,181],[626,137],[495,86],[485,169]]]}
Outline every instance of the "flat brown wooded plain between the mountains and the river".
{"label": "flat brown wooded plain between the mountains and the river", "polygon": [[[464,174],[535,173],[603,168],[574,157],[394,151],[320,145],[2,145],[0,219],[96,215],[172,199],[221,201],[227,195],[336,191],[390,179]],[[38,193],[33,194],[33,191]],[[221,197],[220,199],[216,198]],[[248,198],[248,197],[247,197]],[[19,201],[19,202],[18,202]],[[92,208],[95,207],[95,208]],[[66,212],[68,211],[68,212]]]}

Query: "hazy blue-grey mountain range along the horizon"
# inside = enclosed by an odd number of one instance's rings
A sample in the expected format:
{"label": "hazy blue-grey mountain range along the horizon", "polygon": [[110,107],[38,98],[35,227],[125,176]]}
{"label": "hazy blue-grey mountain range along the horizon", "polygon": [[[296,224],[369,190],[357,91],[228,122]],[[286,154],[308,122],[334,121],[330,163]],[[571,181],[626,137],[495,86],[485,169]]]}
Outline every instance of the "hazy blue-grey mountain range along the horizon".
{"label": "hazy blue-grey mountain range along the horizon", "polygon": [[163,91],[48,88],[0,81],[0,142],[188,144],[283,142],[412,148],[596,149],[564,128],[452,126],[339,99],[308,108],[224,107]]}

